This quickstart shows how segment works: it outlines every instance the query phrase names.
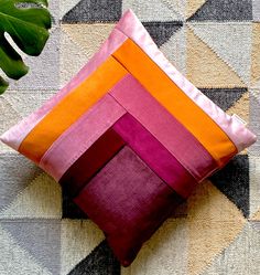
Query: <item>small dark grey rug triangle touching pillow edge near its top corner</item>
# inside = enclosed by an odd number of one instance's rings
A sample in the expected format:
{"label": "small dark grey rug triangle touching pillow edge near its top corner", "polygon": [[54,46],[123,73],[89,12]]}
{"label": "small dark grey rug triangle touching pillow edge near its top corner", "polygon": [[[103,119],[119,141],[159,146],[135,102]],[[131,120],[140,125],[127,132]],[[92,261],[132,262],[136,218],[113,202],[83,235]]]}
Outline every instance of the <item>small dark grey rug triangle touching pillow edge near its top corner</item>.
{"label": "small dark grey rug triangle touching pillow edge near its top corner", "polygon": [[169,21],[169,22],[142,22],[148,30],[149,34],[158,46],[165,43],[177,30],[183,27],[181,21]]}

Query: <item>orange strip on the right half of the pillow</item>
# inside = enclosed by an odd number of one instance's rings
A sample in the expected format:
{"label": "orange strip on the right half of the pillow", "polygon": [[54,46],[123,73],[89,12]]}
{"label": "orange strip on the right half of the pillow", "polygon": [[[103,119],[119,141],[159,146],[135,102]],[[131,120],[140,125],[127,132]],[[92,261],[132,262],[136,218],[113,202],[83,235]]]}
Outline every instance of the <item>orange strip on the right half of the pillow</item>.
{"label": "orange strip on the right half of the pillow", "polygon": [[197,138],[220,167],[237,152],[223,129],[133,41],[128,39],[112,55]]}

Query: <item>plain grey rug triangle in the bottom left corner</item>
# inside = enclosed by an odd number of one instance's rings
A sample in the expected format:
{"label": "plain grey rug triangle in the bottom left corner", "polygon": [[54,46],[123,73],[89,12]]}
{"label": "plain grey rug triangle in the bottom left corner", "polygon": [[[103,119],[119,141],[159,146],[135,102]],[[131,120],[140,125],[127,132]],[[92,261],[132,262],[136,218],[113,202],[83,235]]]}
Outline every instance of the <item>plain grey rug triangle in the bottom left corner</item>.
{"label": "plain grey rug triangle in the bottom left corner", "polygon": [[61,221],[59,220],[21,220],[2,221],[1,226],[13,240],[28,251],[52,274],[59,272]]}

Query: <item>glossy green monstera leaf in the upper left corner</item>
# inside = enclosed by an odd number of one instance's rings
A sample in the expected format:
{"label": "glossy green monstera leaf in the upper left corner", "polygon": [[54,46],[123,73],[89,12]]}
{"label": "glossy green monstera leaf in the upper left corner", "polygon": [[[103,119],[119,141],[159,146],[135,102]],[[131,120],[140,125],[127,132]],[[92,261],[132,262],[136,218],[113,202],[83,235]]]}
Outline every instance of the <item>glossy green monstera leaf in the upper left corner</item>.
{"label": "glossy green monstera leaf in the upper left corner", "polygon": [[[46,8],[47,0],[0,0],[0,68],[8,77],[19,80],[29,67],[8,42],[6,33],[21,51],[39,55],[51,28],[51,14]],[[8,82],[0,76],[0,94],[7,87]]]}

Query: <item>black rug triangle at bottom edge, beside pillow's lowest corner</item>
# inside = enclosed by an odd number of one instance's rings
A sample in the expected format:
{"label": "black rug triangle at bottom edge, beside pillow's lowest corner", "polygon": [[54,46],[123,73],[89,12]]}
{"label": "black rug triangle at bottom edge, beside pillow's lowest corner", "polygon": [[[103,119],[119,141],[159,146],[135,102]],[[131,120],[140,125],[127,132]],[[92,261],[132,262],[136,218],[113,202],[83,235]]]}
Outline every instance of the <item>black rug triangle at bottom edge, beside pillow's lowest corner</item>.
{"label": "black rug triangle at bottom edge, beside pillow's lowest corner", "polygon": [[68,275],[120,275],[120,263],[105,240]]}

